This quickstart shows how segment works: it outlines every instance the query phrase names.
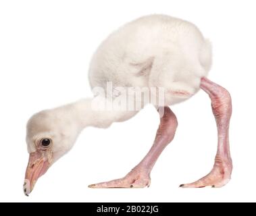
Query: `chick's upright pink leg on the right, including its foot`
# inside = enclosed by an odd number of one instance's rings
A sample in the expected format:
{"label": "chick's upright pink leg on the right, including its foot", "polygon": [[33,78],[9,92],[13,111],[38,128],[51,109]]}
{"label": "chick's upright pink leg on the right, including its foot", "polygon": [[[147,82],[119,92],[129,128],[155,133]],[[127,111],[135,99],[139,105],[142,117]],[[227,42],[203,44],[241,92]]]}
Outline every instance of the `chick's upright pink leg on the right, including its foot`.
{"label": "chick's upright pink leg on the right, including its foot", "polygon": [[228,129],[232,113],[231,97],[225,88],[207,78],[201,79],[201,88],[209,94],[211,107],[217,124],[217,155],[211,172],[190,184],[181,184],[182,188],[203,188],[212,186],[220,188],[231,179],[232,159],[228,140]]}

